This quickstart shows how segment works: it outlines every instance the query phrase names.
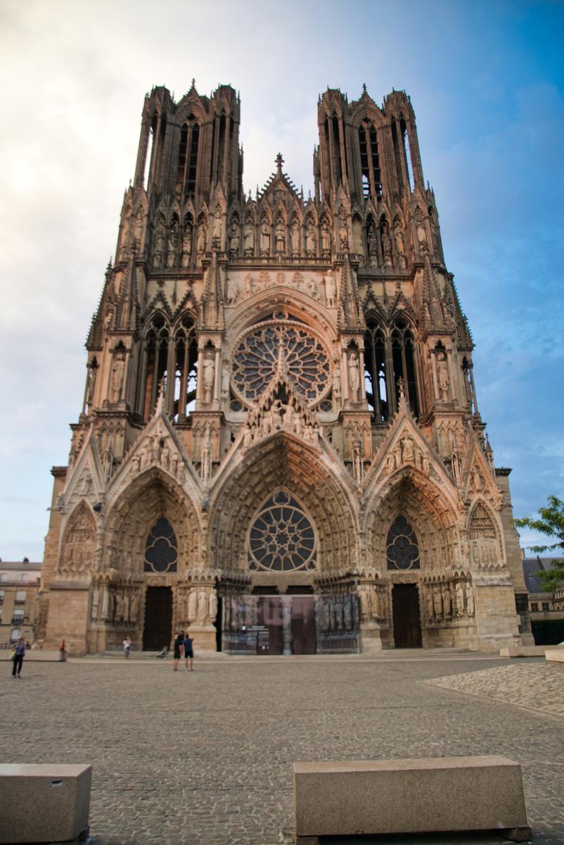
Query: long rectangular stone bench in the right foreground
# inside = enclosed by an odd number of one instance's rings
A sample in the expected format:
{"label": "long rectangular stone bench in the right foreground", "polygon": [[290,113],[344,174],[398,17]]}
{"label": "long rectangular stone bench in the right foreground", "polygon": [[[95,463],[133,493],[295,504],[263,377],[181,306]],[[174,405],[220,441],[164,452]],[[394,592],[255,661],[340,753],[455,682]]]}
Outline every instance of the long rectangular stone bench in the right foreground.
{"label": "long rectangular stone bench in the right foreground", "polygon": [[366,833],[530,835],[521,767],[500,756],[294,763],[294,810],[296,845]]}

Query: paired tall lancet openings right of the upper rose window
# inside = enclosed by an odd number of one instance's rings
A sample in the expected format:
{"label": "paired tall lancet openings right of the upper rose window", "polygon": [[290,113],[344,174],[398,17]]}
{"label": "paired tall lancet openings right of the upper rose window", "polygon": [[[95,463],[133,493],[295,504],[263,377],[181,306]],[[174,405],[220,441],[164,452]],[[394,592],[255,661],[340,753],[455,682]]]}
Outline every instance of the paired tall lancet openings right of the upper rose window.
{"label": "paired tall lancet openings right of the upper rose window", "polygon": [[396,319],[389,330],[375,319],[367,319],[365,335],[366,400],[373,421],[382,423],[395,412],[399,401],[399,379],[411,413],[419,413],[415,374],[415,338],[407,320]]}

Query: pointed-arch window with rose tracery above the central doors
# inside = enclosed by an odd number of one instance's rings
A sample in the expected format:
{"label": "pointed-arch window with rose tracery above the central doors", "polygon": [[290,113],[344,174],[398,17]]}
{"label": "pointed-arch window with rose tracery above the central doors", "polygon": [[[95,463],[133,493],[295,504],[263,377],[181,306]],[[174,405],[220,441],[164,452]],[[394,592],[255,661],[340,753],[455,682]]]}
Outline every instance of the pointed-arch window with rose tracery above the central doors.
{"label": "pointed-arch window with rose tracery above the central doors", "polygon": [[312,523],[285,490],[274,493],[252,523],[250,570],[314,570],[316,542]]}

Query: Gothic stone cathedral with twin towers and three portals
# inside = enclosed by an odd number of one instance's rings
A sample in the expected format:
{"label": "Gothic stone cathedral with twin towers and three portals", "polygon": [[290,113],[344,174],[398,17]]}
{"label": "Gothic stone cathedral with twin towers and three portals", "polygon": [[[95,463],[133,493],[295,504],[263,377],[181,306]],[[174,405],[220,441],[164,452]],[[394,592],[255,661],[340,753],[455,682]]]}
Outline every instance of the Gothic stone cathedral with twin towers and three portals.
{"label": "Gothic stone cathedral with twin towers and three portals", "polygon": [[[313,195],[243,189],[241,102],[144,101],[37,636],[74,654],[532,642],[415,114],[328,89]],[[78,397],[77,397],[78,398]],[[77,409],[78,410],[78,409]]]}

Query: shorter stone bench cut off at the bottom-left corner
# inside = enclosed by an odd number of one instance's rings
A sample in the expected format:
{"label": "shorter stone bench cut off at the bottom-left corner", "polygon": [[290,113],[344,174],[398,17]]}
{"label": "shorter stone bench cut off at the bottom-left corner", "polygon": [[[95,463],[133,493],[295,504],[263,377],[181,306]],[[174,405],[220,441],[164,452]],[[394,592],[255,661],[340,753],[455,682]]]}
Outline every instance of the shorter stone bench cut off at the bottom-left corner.
{"label": "shorter stone bench cut off at the bottom-left corner", "polygon": [[92,766],[0,764],[0,845],[88,836]]}

